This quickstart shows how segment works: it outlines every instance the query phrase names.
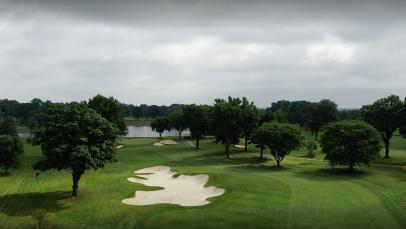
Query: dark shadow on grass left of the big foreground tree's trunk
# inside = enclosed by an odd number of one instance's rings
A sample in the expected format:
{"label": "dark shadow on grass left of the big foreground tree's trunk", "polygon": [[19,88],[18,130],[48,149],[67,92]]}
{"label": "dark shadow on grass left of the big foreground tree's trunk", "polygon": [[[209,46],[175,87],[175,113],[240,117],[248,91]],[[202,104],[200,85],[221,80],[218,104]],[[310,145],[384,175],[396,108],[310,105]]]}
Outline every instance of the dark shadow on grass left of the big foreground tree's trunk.
{"label": "dark shadow on grass left of the big foreground tree's trunk", "polygon": [[8,216],[27,216],[37,209],[58,212],[68,208],[63,200],[70,198],[71,192],[18,193],[0,196],[0,213]]}

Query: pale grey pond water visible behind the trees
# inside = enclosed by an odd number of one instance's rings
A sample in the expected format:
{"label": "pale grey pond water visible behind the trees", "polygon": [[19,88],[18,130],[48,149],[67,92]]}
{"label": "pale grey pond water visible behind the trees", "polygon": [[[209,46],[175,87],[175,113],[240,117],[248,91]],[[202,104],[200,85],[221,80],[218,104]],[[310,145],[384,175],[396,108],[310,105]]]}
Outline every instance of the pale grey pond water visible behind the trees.
{"label": "pale grey pond water visible behind the trees", "polygon": [[[150,126],[127,126],[128,134],[126,137],[159,137],[159,134],[155,131],[152,131]],[[29,137],[30,133],[28,132],[20,132],[18,133],[20,137]],[[178,136],[178,131],[171,130],[171,131],[164,131],[162,133],[163,137],[168,136]],[[190,132],[188,130],[182,132],[182,136],[190,136]]]}

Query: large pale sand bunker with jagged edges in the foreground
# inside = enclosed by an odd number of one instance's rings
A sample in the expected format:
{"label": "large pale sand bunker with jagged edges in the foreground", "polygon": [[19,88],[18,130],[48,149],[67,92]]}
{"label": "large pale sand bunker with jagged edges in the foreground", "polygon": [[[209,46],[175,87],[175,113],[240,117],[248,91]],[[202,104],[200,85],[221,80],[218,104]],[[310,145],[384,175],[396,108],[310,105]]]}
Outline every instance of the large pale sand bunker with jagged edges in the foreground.
{"label": "large pale sand bunker with jagged edges in the foreground", "polygon": [[224,189],[214,186],[204,187],[209,180],[206,174],[194,176],[179,175],[168,166],[154,166],[134,172],[137,177],[128,181],[146,186],[162,187],[156,191],[136,191],[135,197],[124,199],[129,205],[178,204],[180,206],[201,206],[209,204],[207,198],[220,196]]}

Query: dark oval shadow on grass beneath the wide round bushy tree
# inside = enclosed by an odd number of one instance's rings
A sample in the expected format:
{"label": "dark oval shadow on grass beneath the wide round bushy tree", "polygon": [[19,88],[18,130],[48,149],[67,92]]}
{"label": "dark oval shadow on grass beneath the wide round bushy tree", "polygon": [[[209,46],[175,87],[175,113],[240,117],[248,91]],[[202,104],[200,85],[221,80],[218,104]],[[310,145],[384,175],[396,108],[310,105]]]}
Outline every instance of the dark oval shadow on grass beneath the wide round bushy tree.
{"label": "dark oval shadow on grass beneath the wide round bushy tree", "polygon": [[318,180],[331,181],[331,179],[337,180],[362,179],[368,175],[371,175],[371,173],[357,169],[355,169],[354,171],[350,171],[346,168],[322,168],[306,171],[297,171],[295,172],[295,175],[310,180],[315,180],[317,178],[325,178]]}

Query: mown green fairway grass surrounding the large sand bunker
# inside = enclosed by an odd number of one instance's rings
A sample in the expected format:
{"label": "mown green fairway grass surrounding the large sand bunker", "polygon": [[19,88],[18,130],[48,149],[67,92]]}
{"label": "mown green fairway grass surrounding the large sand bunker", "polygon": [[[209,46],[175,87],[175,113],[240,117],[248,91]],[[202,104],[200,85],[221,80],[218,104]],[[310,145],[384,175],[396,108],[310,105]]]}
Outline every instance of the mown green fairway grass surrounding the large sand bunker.
{"label": "mown green fairway grass surrounding the large sand bunker", "polygon": [[[406,174],[400,167],[372,166],[348,174],[325,162],[294,157],[304,154],[298,151],[276,168],[268,152],[267,160],[259,160],[252,146],[249,152],[233,148],[227,160],[213,139],[202,141],[200,150],[186,140],[162,147],[152,146],[155,141],[123,140],[117,163],[86,172],[78,198],[69,197],[67,172],[48,171],[35,178],[31,167],[41,152],[26,144],[23,168],[0,177],[0,228],[28,225],[38,208],[63,228],[406,227]],[[134,170],[157,165],[182,174],[208,174],[207,186],[226,192],[200,207],[123,204],[136,190],[159,189],[127,181]]]}

